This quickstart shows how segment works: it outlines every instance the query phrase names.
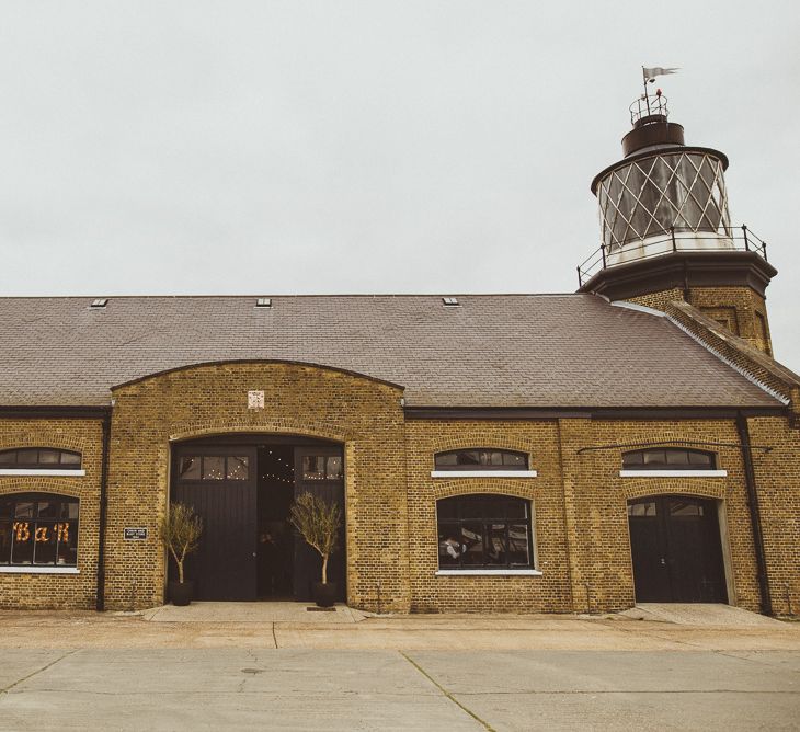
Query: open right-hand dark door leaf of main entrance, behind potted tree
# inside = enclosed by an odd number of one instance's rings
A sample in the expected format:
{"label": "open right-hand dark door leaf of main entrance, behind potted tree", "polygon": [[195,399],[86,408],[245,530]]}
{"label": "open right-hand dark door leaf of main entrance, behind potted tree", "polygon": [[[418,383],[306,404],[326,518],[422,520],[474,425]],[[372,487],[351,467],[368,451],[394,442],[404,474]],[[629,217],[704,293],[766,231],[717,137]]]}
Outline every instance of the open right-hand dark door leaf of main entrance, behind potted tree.
{"label": "open right-hand dark door leaf of main entrance, behind potted tree", "polygon": [[[328,581],[336,583],[336,599],[346,598],[346,546],[344,531],[344,458],[341,446],[322,445],[295,448],[295,495],[304,492],[336,503],[342,511],[339,546],[328,561]],[[322,560],[302,537],[295,531],[294,595],[298,601],[310,601],[312,587],[320,581]]]}

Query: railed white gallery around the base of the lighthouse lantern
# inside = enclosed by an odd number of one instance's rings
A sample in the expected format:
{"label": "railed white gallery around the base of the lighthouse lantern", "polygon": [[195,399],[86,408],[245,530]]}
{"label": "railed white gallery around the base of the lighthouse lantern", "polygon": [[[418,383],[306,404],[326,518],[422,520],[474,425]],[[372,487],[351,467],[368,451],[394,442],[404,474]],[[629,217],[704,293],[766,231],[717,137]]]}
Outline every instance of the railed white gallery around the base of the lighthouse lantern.
{"label": "railed white gallery around the base of the lighthouse lantern", "polygon": [[767,243],[746,226],[727,227],[722,231],[697,231],[673,227],[644,239],[635,238],[613,244],[601,244],[578,265],[579,287],[583,287],[603,270],[640,262],[677,252],[742,251],[754,252],[767,261]]}

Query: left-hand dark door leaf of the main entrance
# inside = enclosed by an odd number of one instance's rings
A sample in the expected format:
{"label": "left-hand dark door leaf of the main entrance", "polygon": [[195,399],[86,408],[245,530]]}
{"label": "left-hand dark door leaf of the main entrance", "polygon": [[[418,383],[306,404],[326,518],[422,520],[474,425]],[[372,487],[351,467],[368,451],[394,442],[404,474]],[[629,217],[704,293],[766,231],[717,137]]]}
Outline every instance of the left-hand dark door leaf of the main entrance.
{"label": "left-hand dark door leaf of the main entrance", "polygon": [[[199,548],[186,567],[195,597],[255,599],[255,449],[181,446],[173,470],[172,501],[193,506],[203,519]],[[174,577],[174,562],[170,571]]]}

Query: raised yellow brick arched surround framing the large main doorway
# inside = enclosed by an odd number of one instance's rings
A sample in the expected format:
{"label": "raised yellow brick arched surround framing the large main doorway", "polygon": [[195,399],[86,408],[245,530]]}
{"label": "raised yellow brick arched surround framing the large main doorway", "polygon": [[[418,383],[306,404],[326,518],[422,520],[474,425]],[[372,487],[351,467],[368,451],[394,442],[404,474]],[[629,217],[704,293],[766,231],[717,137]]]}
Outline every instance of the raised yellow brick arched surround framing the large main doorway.
{"label": "raised yellow brick arched surround framing the large main doorway", "polygon": [[[248,410],[248,391],[265,409]],[[114,392],[108,485],[110,608],[163,601],[164,553],[156,539],[167,506],[170,444],[204,435],[294,434],[345,446],[347,597],[409,607],[402,391],[332,369],[285,363],[196,366]],[[145,542],[125,526],[149,528]]]}

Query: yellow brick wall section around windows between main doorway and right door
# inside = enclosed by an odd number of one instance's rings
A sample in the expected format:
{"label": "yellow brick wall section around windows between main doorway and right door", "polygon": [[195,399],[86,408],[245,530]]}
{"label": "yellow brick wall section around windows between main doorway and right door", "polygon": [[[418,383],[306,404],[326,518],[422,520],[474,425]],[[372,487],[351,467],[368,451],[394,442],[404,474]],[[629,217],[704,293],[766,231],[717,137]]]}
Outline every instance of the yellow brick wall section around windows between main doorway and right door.
{"label": "yellow brick wall section around windows between main doorway and right door", "polygon": [[[416,611],[568,613],[571,610],[558,425],[538,422],[411,421],[407,426],[411,607]],[[434,455],[496,447],[530,456],[537,478],[432,478]],[[436,576],[437,499],[502,493],[534,506],[534,540],[542,576]]]}

